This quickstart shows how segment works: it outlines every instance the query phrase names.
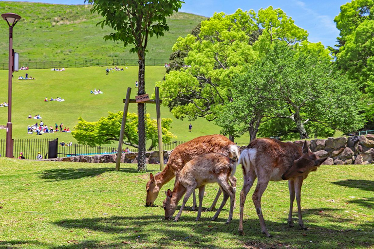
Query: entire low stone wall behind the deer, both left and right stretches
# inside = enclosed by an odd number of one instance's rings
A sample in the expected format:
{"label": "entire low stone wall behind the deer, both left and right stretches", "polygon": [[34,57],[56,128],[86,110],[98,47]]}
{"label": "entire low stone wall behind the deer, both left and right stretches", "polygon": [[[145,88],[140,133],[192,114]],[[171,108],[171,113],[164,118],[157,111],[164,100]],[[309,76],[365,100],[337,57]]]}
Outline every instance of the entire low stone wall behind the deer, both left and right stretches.
{"label": "entire low stone wall behind the deer, both left and right stretches", "polygon": [[[303,140],[294,143],[302,146]],[[328,157],[323,164],[369,164],[374,163],[374,135],[352,136],[328,139],[315,139],[307,141],[312,152],[320,158]],[[244,146],[242,147],[244,148]],[[168,159],[171,151],[164,151],[164,161]],[[138,153],[122,153],[121,162],[137,163]],[[158,151],[146,153],[147,163],[159,164]],[[67,158],[45,159],[48,161],[74,161],[74,162],[115,162],[117,154],[75,156]]]}

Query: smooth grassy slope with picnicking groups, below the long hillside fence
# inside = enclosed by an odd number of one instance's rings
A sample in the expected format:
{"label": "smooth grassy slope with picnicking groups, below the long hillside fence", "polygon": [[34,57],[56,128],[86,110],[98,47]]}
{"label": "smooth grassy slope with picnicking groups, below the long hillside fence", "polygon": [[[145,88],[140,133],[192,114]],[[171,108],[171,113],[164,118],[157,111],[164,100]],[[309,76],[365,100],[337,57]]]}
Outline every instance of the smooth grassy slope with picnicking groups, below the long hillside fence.
{"label": "smooth grassy slope with picnicking groups, below the long hillside fence", "polygon": [[[18,76],[25,73],[35,77],[35,80],[18,80]],[[162,80],[165,74],[164,67],[146,67],[146,90],[150,95],[154,92],[154,83]],[[128,67],[125,71],[111,71],[106,75],[104,67],[68,68],[66,71],[51,71],[49,69],[30,69],[28,71],[14,72],[13,79],[13,106],[12,123],[13,138],[58,138],[60,141],[73,139],[71,133],[54,133],[37,136],[27,134],[27,125],[35,124],[39,120],[27,119],[31,114],[40,114],[42,121],[48,125],[59,125],[73,129],[81,116],[87,121],[97,121],[107,116],[108,111],[123,111],[122,100],[126,97],[128,87],[132,88],[131,98],[135,98],[137,89],[135,80],[138,76],[138,67]],[[94,88],[100,89],[104,94],[91,94]],[[0,70],[0,102],[8,100],[8,74]],[[64,102],[44,102],[44,98],[61,97]],[[136,105],[131,104],[129,112],[136,112]],[[7,123],[7,107],[0,107],[0,124]],[[151,118],[156,118],[155,105],[147,105],[147,112]],[[219,133],[220,128],[205,119],[177,120],[169,112],[168,107],[161,107],[161,117],[172,118],[171,132],[177,136],[176,140],[188,141],[198,136]],[[188,132],[188,125],[192,124],[192,132]],[[6,131],[0,129],[0,139],[5,139]],[[243,136],[238,142],[249,142],[248,136]]]}

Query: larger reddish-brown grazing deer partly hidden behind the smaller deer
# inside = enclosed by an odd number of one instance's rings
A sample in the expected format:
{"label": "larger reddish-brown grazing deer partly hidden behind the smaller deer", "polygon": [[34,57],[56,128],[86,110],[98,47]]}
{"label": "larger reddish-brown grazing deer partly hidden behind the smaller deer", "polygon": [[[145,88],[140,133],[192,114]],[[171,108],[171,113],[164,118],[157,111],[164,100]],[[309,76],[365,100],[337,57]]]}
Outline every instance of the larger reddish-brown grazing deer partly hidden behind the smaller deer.
{"label": "larger reddish-brown grazing deer partly hidden behind the smaller deer", "polygon": [[[147,182],[147,199],[146,206],[152,206],[156,200],[158,193],[162,186],[164,186],[169,180],[176,176],[178,179],[179,172],[185,166],[185,164],[192,160],[194,157],[206,154],[209,152],[221,153],[228,157],[236,156],[239,158],[239,149],[234,142],[231,142],[228,138],[223,135],[207,135],[192,139],[188,142],[178,145],[170,154],[168,163],[164,170],[153,176],[150,173],[150,180]],[[233,182],[233,187],[236,186],[236,178],[231,179]],[[216,199],[214,200],[210,211],[213,210],[215,203],[219,195],[221,194],[221,189],[218,191]],[[192,210],[195,210],[196,197],[195,192],[193,193],[193,205]]]}

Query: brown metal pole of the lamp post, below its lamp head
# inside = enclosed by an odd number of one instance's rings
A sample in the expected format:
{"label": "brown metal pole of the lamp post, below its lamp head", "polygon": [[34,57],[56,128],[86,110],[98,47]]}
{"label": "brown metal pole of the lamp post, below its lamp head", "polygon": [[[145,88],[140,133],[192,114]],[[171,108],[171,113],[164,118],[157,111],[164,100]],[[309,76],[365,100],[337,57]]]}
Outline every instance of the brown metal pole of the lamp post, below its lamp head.
{"label": "brown metal pole of the lamp post, below its lamp head", "polygon": [[13,27],[9,27],[9,74],[8,74],[8,123],[6,124],[6,151],[7,158],[13,158],[12,146],[12,73],[13,73]]}

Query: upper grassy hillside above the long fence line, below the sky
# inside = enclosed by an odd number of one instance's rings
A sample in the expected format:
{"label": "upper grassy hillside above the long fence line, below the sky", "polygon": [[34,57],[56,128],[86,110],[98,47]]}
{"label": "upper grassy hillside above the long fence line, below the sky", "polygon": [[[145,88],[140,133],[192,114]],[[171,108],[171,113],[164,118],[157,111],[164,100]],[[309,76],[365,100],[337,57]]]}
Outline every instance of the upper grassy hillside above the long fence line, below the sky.
{"label": "upper grassy hillside above the long fence line, below the sky", "polygon": [[[97,26],[103,18],[91,14],[90,5],[62,5],[0,1],[0,13],[22,17],[14,28],[13,48],[26,61],[74,61],[88,59],[135,59],[123,43],[105,41],[112,29]],[[204,17],[175,13],[168,19],[170,31],[150,39],[147,59],[168,59],[179,36],[186,36]],[[0,64],[8,63],[8,25],[0,21]],[[2,69],[2,67],[0,67]]]}

